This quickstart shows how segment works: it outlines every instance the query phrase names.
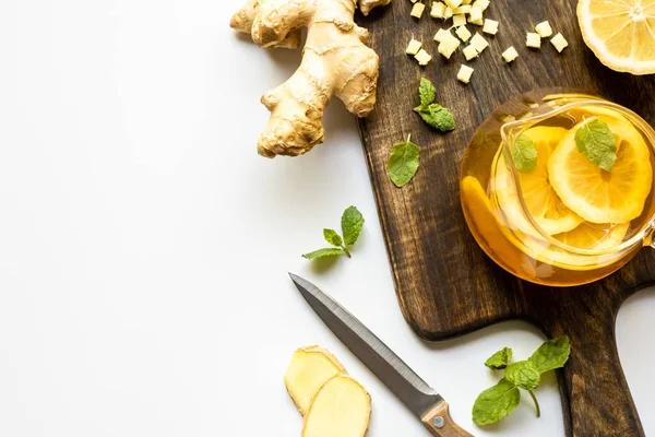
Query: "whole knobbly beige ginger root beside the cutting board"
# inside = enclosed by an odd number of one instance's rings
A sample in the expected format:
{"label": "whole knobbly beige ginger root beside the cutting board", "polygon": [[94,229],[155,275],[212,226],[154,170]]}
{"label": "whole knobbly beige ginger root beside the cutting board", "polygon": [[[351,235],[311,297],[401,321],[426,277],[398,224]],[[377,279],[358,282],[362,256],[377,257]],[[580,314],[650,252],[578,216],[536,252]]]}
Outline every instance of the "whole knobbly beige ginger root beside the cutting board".
{"label": "whole knobbly beige ginger root beside the cutting board", "polygon": [[391,0],[248,0],[230,26],[261,47],[298,48],[308,27],[302,62],[281,86],[262,96],[271,119],[258,141],[262,156],[296,156],[323,142],[323,109],[336,95],[358,117],[376,104],[378,55],[365,45],[368,31],[354,22]]}

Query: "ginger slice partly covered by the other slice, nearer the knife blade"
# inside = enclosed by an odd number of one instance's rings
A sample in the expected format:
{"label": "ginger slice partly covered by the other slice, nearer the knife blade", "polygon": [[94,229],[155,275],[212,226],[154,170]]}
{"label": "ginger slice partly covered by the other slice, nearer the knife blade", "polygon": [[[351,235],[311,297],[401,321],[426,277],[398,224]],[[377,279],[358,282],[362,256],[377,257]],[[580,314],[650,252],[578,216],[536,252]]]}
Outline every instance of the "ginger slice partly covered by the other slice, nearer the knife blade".
{"label": "ginger slice partly covered by the other slice, nearer the knife blade", "polygon": [[300,414],[306,415],[319,389],[341,374],[346,374],[346,369],[327,350],[319,346],[300,347],[291,357],[284,383]]}

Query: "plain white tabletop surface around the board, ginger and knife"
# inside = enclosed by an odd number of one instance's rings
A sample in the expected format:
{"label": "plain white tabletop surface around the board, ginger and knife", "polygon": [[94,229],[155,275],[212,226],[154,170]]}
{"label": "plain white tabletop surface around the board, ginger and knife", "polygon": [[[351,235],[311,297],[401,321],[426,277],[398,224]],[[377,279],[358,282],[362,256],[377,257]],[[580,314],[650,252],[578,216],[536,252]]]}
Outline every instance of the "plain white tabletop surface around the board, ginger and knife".
{"label": "plain white tabletop surface around the board, ginger and knife", "polygon": [[[283,374],[296,347],[332,350],[370,391],[372,437],[427,436],[333,336],[287,271],[333,294],[477,435],[563,434],[555,377],[499,426],[471,408],[483,362],[543,336],[509,322],[419,341],[394,294],[355,120],[330,106],[326,144],[255,154],[266,90],[299,54],[228,27],[236,0],[0,3],[0,435],[297,436]],[[475,86],[475,85],[472,85]],[[312,264],[357,205],[353,259]],[[655,434],[655,291],[621,310],[621,359]],[[608,400],[604,400],[607,402]]]}

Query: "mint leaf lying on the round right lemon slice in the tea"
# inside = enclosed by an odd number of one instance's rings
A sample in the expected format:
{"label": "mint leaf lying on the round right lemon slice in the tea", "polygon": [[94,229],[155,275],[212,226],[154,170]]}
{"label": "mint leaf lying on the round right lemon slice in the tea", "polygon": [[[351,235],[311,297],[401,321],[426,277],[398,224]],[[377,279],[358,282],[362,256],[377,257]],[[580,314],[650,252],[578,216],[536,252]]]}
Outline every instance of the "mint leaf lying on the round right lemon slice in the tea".
{"label": "mint leaf lying on the round right lemon slice in the tea", "polygon": [[617,140],[605,121],[590,118],[577,128],[575,144],[580,153],[606,172],[617,161]]}

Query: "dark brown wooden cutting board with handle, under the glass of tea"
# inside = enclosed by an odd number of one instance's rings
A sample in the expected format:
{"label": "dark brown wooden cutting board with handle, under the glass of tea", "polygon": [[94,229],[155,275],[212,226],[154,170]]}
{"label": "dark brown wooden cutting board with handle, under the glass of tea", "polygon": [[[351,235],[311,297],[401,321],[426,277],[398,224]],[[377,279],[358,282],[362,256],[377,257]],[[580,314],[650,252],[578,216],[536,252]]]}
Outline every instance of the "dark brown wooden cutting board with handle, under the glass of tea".
{"label": "dark brown wooden cutting board with handle, under the glass of tea", "polygon": [[[517,94],[551,86],[582,88],[655,123],[655,78],[605,68],[583,43],[575,5],[575,0],[492,0],[485,16],[499,20],[500,32],[469,62],[475,73],[467,86],[455,79],[463,55],[449,61],[437,52],[432,37],[442,22],[429,16],[429,8],[418,22],[409,16],[408,0],[360,16],[381,58],[378,106],[360,121],[360,132],[398,300],[417,334],[438,341],[507,319],[533,322],[549,336],[567,334],[572,354],[559,376],[568,434],[640,436],[643,429],[617,353],[615,319],[627,297],[655,282],[655,250],[644,248],[618,273],[591,285],[538,286],[515,279],[483,252],[460,205],[467,142],[495,108]],[[547,39],[540,50],[525,47],[526,31],[544,20],[568,38],[570,47],[562,55]],[[433,57],[425,69],[404,55],[413,36]],[[511,45],[520,58],[508,66],[501,52]],[[436,84],[438,102],[454,113],[454,132],[439,134],[412,111],[421,75]],[[389,180],[386,162],[392,144],[408,133],[421,147],[421,167],[409,185],[397,189]]]}

